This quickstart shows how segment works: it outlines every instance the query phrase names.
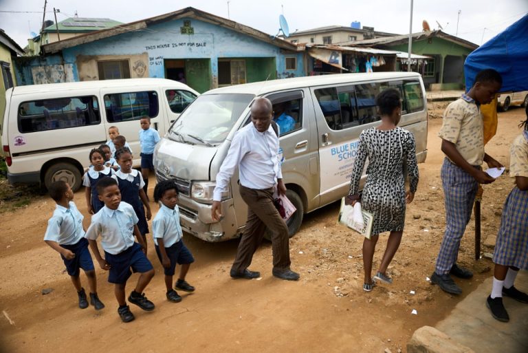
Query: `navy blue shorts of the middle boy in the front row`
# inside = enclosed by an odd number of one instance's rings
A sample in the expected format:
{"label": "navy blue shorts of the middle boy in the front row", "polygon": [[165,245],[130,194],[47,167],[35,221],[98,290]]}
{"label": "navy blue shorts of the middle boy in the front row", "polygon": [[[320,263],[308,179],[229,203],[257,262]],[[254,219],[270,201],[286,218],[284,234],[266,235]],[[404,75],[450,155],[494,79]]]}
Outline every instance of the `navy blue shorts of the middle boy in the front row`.
{"label": "navy blue shorts of the middle boy in the front row", "polygon": [[140,244],[134,243],[130,248],[117,255],[104,252],[104,259],[111,266],[108,281],[113,284],[124,284],[133,272],[148,272],[153,269],[151,261],[141,250]]}

